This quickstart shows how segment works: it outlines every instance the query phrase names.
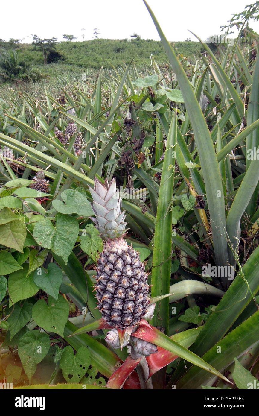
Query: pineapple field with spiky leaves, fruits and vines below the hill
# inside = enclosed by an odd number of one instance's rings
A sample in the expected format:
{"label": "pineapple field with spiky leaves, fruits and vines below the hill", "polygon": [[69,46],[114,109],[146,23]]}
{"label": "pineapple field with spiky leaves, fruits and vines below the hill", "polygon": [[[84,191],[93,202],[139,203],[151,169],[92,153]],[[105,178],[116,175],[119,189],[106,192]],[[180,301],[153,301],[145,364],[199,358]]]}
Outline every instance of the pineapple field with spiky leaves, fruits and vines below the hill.
{"label": "pineapple field with spiky leaves, fruits and vines below the hill", "polygon": [[192,60],[144,3],[162,64],[0,85],[4,388],[259,388],[259,2]]}

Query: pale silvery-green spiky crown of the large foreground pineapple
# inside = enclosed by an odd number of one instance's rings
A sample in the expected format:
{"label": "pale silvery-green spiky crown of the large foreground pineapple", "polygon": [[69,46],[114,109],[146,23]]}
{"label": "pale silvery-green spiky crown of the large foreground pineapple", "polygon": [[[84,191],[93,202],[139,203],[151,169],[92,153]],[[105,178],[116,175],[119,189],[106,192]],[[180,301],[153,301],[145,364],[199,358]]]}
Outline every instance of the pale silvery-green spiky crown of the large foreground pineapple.
{"label": "pale silvery-green spiky crown of the large foreground pineapple", "polygon": [[121,212],[121,198],[116,191],[115,178],[108,183],[106,178],[104,185],[95,177],[94,189],[89,187],[93,198],[91,204],[95,218],[91,220],[96,224],[104,240],[115,240],[125,235],[126,224],[124,223],[125,211]]}

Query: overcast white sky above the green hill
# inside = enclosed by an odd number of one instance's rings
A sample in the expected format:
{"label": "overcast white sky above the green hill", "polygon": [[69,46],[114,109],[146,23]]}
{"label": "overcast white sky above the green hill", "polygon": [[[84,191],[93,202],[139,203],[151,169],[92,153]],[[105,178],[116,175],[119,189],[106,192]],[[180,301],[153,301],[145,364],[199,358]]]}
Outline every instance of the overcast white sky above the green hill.
{"label": "overcast white sky above the green hill", "polygon": [[[202,40],[220,33],[220,26],[232,14],[244,10],[254,0],[148,0],[160,26],[170,41],[195,37]],[[57,37],[68,33],[78,40],[92,39],[98,27],[102,38],[124,39],[133,32],[145,39],[159,40],[153,21],[142,0],[12,0],[2,1],[0,38],[31,42],[31,34]],[[252,23],[259,30],[259,22]],[[85,30],[82,31],[81,29]]]}

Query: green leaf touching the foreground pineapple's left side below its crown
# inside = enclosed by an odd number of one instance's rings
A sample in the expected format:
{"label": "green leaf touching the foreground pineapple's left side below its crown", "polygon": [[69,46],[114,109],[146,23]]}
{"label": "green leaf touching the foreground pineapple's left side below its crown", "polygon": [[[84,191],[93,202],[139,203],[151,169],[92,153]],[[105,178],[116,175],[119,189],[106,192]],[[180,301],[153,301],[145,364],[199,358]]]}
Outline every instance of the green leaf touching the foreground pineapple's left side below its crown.
{"label": "green leaf touching the foreground pineapple's left side below its crown", "polygon": [[97,260],[98,253],[101,253],[103,250],[103,241],[99,234],[99,231],[93,224],[87,224],[86,235],[82,235],[80,238],[81,249],[84,250],[94,262]]}

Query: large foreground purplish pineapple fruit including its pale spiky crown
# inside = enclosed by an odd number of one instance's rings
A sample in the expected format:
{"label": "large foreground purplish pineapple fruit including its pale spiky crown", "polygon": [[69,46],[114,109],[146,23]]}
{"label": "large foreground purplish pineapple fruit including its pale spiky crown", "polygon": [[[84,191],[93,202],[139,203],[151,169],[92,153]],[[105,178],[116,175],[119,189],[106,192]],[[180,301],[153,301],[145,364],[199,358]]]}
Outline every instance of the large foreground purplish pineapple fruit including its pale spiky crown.
{"label": "large foreground purplish pineapple fruit including its pale spiky crown", "polygon": [[103,319],[112,327],[134,327],[146,314],[149,303],[148,275],[138,253],[124,239],[125,211],[116,192],[115,178],[103,185],[94,178],[91,218],[105,240],[104,251],[97,261],[96,298]]}

